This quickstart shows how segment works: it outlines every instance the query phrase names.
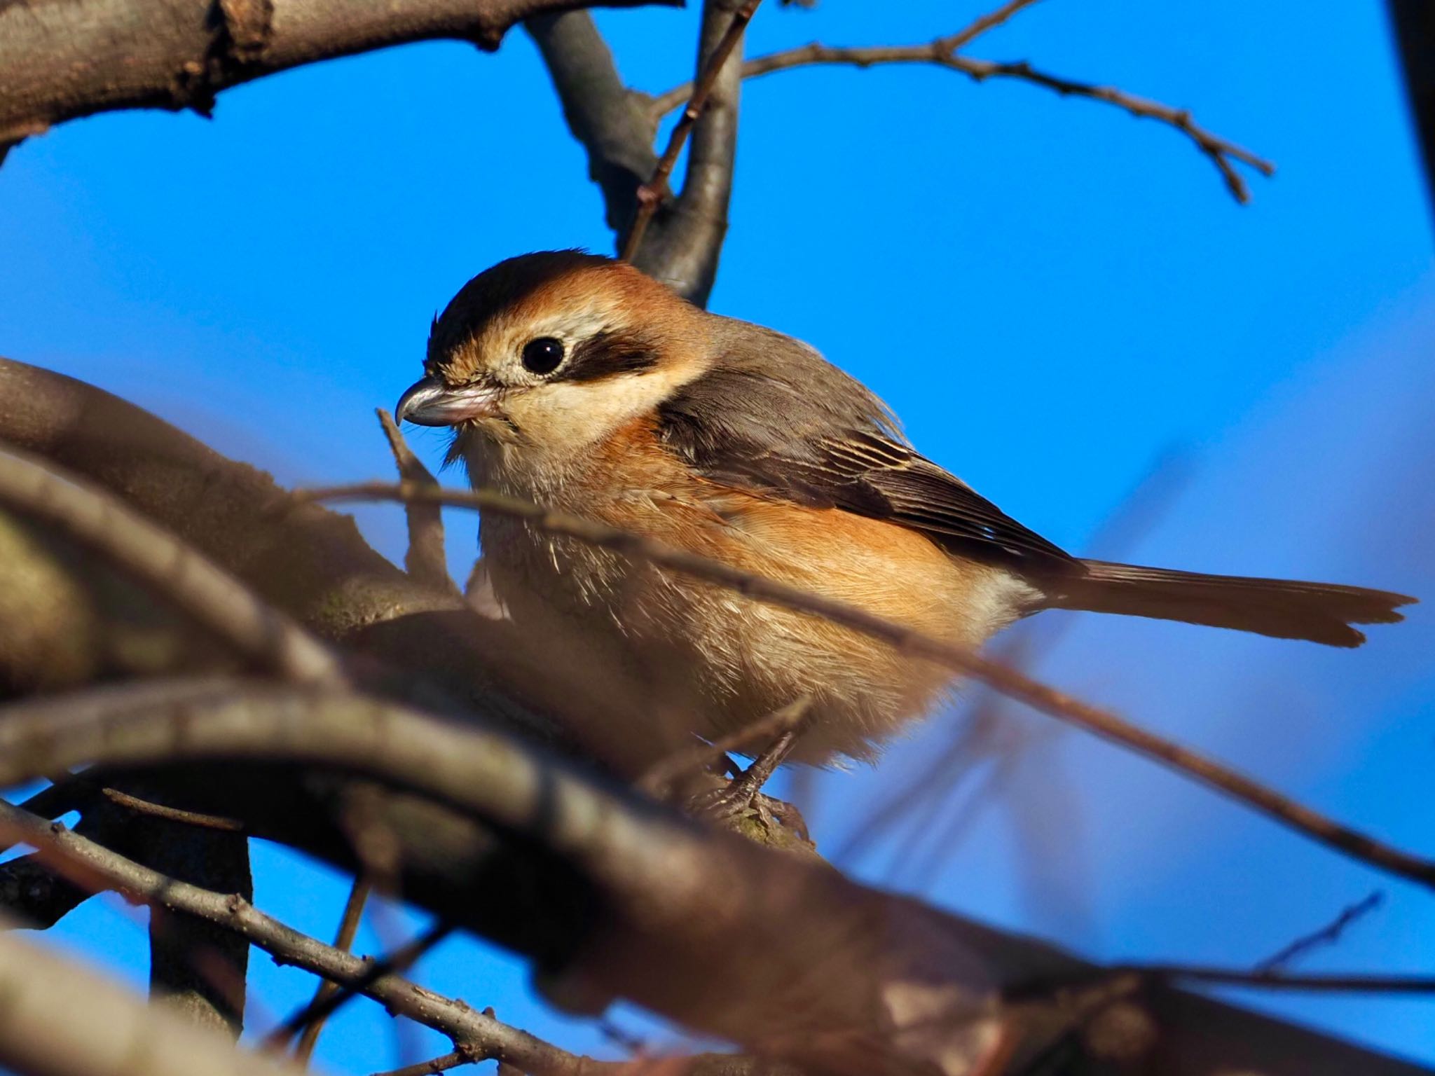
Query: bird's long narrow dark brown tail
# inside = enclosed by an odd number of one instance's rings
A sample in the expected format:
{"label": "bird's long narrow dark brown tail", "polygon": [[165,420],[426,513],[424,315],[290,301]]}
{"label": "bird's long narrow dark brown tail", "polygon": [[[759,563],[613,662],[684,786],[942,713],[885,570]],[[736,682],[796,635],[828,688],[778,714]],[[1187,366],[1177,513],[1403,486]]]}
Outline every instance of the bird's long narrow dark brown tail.
{"label": "bird's long narrow dark brown tail", "polygon": [[1180,620],[1358,647],[1365,634],[1352,624],[1393,624],[1405,620],[1396,608],[1415,601],[1405,594],[1333,582],[1201,575],[1106,561],[1082,564],[1086,572],[1063,580],[1060,593],[1048,595],[1048,607]]}

